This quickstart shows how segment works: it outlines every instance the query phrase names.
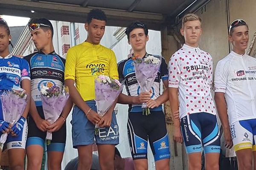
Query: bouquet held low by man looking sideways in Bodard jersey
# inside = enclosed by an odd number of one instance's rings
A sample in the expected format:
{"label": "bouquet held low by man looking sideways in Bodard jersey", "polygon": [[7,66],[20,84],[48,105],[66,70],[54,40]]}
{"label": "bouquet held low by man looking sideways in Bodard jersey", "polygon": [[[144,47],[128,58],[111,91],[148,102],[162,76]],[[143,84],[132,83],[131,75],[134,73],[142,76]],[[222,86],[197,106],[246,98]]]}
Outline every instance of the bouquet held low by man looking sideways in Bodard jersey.
{"label": "bouquet held low by man looking sideways in Bodard jersey", "polygon": [[[41,100],[44,110],[45,119],[53,124],[61,115],[64,106],[69,98],[68,88],[65,86],[62,91],[60,87],[52,85],[51,87],[41,86]],[[52,140],[52,133],[47,132],[47,144],[49,145]]]}

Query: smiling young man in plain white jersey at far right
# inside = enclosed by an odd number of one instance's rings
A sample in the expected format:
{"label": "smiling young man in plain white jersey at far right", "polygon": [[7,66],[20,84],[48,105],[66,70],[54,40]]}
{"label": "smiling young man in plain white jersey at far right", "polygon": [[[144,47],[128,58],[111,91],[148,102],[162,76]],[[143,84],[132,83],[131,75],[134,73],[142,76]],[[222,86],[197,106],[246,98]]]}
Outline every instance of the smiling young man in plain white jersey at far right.
{"label": "smiling young man in plain white jersey at far right", "polygon": [[215,103],[224,129],[225,146],[234,145],[239,170],[255,170],[256,59],[245,53],[249,29],[244,20],[230,24],[228,40],[233,49],[215,69]]}

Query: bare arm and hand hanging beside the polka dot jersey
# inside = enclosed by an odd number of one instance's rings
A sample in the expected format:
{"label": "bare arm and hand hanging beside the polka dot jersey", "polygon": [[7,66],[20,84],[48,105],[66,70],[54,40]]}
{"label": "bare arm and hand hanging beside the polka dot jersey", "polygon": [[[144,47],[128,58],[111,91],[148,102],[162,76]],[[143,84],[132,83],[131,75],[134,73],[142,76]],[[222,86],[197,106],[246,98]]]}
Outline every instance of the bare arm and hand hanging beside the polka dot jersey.
{"label": "bare arm and hand hanging beside the polka dot jersey", "polygon": [[[169,102],[174,117],[174,113],[179,110],[179,99],[178,99],[178,88],[169,88]],[[174,140],[176,142],[182,143],[183,138],[180,131],[180,119],[175,118],[174,120]]]}

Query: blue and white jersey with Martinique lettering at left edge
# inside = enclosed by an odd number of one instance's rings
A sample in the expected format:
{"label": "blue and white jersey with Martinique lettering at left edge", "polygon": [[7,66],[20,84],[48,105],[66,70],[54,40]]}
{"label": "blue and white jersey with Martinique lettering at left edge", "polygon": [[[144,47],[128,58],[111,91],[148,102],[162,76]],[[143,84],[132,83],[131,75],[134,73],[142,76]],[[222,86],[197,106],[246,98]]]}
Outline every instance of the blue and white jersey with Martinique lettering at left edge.
{"label": "blue and white jersey with Martinique lettering at left edge", "polygon": [[30,80],[29,64],[25,59],[9,55],[0,57],[0,90],[20,87],[23,79]]}

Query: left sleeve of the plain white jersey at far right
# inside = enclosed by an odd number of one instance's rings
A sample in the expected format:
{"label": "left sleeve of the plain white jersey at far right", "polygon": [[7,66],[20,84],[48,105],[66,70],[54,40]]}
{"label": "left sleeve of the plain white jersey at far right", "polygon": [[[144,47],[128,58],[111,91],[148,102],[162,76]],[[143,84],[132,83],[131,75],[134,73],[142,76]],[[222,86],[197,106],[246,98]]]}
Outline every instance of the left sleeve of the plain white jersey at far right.
{"label": "left sleeve of the plain white jersey at far right", "polygon": [[226,92],[227,87],[228,69],[227,64],[223,61],[219,61],[214,75],[214,91],[215,92]]}

